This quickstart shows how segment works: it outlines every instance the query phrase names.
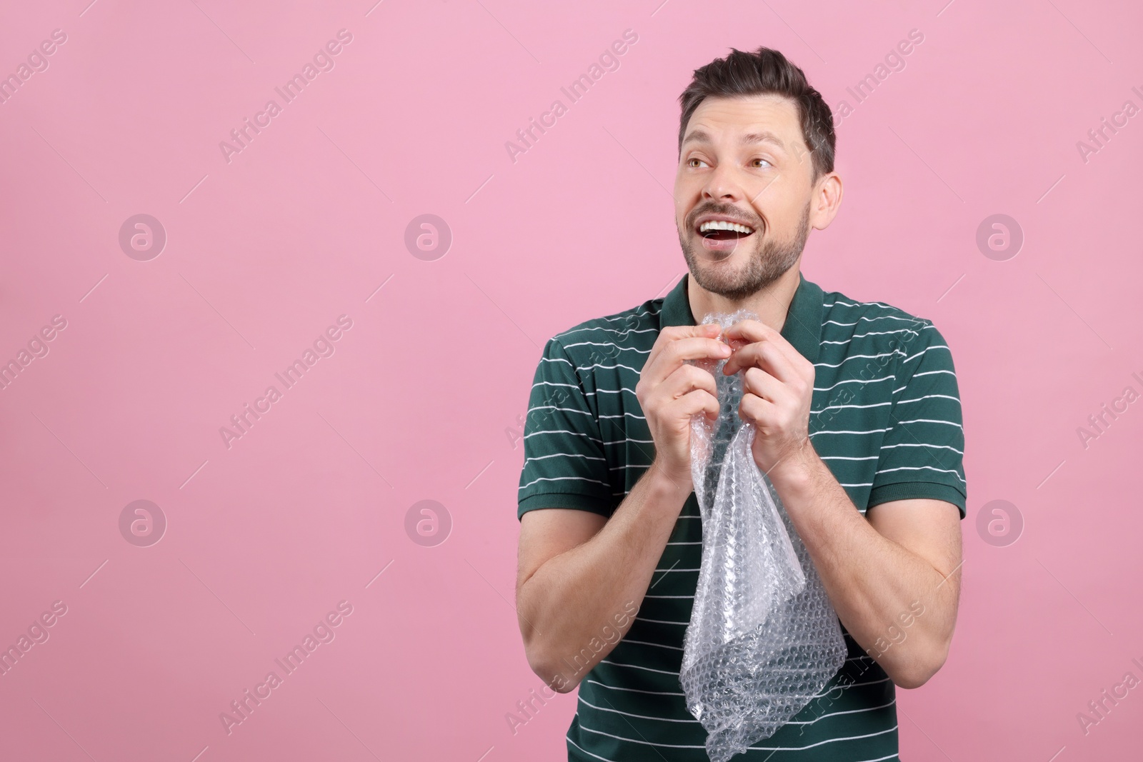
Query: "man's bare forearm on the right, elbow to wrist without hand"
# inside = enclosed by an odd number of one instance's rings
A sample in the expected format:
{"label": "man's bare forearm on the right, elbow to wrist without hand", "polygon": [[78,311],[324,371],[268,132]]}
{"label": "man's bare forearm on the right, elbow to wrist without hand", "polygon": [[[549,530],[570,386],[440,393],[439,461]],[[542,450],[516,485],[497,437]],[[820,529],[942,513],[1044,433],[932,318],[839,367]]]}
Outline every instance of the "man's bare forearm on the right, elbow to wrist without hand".
{"label": "man's bare forearm on the right, elbow to wrist without hand", "polygon": [[884,537],[816,454],[802,460],[772,478],[838,618],[896,684],[922,684],[948,655],[956,570],[937,569]]}

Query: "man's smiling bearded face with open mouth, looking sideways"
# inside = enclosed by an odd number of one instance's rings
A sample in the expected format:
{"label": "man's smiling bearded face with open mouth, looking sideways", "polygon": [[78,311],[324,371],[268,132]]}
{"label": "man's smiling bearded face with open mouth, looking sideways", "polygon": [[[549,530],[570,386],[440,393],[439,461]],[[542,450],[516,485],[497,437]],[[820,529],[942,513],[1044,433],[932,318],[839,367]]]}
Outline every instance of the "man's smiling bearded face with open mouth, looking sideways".
{"label": "man's smiling bearded face with open mouth, looking sideways", "polygon": [[790,99],[698,104],[674,178],[674,220],[695,281],[742,299],[794,266],[809,234],[813,174]]}

